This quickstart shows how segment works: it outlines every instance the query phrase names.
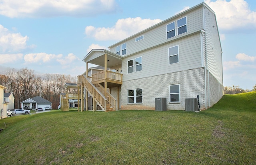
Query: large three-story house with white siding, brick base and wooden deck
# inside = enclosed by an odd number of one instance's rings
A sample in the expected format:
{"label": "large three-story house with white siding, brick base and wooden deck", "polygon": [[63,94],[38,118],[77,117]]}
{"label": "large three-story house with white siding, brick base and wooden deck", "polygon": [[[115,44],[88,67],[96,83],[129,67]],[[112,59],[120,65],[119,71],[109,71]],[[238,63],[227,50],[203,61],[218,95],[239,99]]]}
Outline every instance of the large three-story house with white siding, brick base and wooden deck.
{"label": "large three-story house with white siding, brick base and wooden deck", "polygon": [[[92,49],[83,59],[87,68],[77,83],[83,110],[90,95],[92,108],[104,111],[154,110],[159,97],[167,99],[167,110],[185,110],[189,98],[207,109],[223,96],[216,16],[204,2],[108,49]],[[90,74],[88,64],[104,69]]]}

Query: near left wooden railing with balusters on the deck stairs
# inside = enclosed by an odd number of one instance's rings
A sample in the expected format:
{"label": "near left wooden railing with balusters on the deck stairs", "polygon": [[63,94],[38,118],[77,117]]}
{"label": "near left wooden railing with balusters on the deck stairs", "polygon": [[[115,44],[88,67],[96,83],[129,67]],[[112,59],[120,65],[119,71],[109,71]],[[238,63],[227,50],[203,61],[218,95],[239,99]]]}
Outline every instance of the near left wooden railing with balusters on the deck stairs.
{"label": "near left wooden railing with balusters on the deck stairs", "polygon": [[86,78],[85,75],[83,75],[82,83],[84,84],[84,87],[86,90],[92,95],[92,97],[95,99],[96,103],[104,110],[106,111],[106,105],[107,105],[107,98],[97,89],[92,82],[88,78]]}

